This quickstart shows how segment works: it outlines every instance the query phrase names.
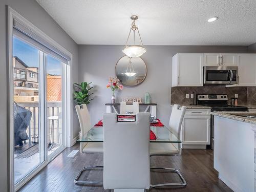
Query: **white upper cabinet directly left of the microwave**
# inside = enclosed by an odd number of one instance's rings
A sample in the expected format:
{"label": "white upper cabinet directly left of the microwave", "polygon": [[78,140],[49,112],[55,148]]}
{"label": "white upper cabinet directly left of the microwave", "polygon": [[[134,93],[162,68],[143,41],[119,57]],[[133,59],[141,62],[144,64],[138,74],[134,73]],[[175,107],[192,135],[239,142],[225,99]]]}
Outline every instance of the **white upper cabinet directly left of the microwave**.
{"label": "white upper cabinet directly left of the microwave", "polygon": [[173,56],[172,86],[203,86],[203,54]]}

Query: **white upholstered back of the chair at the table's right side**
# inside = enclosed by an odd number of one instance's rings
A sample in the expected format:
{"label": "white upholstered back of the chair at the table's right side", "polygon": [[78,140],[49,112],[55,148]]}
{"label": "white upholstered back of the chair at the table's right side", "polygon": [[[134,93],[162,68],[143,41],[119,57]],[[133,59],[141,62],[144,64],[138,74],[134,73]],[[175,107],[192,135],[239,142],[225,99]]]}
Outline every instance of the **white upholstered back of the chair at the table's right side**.
{"label": "white upholstered back of the chair at the table's right side", "polygon": [[173,105],[172,113],[170,114],[169,127],[173,134],[180,139],[181,124],[186,112],[186,106],[178,104]]}

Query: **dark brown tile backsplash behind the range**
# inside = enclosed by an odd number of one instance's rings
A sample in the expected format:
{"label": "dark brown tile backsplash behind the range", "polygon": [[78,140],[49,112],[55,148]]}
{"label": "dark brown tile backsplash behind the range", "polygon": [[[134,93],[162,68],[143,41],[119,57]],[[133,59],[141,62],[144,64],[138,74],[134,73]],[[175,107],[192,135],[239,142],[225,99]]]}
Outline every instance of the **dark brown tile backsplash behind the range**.
{"label": "dark brown tile backsplash behind the range", "polygon": [[[231,98],[234,97],[234,94],[238,94],[238,104],[256,105],[256,87],[226,88],[225,85],[203,87],[172,87],[170,103],[191,104],[193,103],[193,99],[190,99],[190,94],[193,92],[195,97],[197,94],[227,94],[228,104],[231,104]],[[186,99],[186,94],[189,94],[189,99]]]}

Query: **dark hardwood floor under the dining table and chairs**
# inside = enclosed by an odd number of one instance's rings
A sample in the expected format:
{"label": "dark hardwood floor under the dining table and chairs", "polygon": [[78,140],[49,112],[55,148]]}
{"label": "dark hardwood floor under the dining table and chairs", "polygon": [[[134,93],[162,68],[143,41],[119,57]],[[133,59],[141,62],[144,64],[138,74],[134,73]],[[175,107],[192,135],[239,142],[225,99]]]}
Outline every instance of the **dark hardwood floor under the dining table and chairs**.
{"label": "dark hardwood floor under the dining table and chairs", "polygon": [[[83,166],[102,165],[103,156],[94,154],[77,154],[67,157],[72,150],[78,150],[79,144],[67,148],[33,179],[20,188],[19,192],[60,192],[60,191],[107,191],[100,186],[82,186],[74,184],[74,179]],[[151,166],[173,167],[180,170],[187,186],[183,188],[150,189],[150,191],[232,191],[221,180],[213,168],[211,150],[183,150],[181,156],[151,157]],[[84,173],[80,179],[101,180],[102,170]],[[175,173],[152,172],[152,184],[160,182],[180,182]]]}

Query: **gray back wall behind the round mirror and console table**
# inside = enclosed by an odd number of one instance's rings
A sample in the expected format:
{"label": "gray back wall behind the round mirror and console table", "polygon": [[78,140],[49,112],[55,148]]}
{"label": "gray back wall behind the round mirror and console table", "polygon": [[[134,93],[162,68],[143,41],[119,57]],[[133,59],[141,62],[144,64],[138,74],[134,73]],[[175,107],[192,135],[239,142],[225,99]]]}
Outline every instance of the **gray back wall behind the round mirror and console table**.
{"label": "gray back wall behind the round mirror and console table", "polygon": [[[146,46],[142,55],[147,65],[147,76],[139,86],[124,87],[116,94],[121,97],[136,96],[144,98],[149,92],[152,102],[156,102],[157,116],[167,124],[170,115],[170,86],[172,79],[172,57],[176,53],[247,53],[247,46]],[[92,81],[94,98],[89,105],[92,123],[102,118],[105,103],[110,102],[111,91],[106,89],[110,76],[115,76],[115,65],[122,57],[123,46],[79,45],[79,81]]]}

